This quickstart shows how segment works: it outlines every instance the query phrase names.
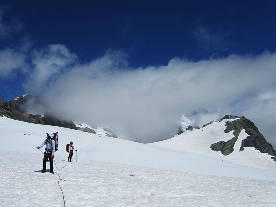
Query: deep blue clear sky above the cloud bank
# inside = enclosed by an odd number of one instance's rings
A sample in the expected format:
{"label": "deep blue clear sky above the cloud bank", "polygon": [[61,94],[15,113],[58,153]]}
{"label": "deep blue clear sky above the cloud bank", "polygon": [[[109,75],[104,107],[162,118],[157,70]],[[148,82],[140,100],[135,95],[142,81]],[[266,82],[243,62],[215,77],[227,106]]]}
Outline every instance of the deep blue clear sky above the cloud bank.
{"label": "deep blue clear sky above the cloud bank", "polygon": [[[0,49],[16,48],[28,38],[31,49],[65,44],[81,62],[109,49],[125,51],[131,67],[146,67],[177,56],[198,61],[276,48],[275,1],[1,1],[0,6],[1,23],[10,27]],[[2,98],[22,94],[14,82],[5,82]]]}

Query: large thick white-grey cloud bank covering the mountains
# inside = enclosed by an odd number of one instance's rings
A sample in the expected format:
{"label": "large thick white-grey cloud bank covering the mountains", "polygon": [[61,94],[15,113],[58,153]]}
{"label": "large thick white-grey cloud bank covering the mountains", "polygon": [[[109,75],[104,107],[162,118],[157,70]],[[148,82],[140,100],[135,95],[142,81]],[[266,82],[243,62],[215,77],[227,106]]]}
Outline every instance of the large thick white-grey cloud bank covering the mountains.
{"label": "large thick white-grey cloud bank covering the mountains", "polygon": [[[45,88],[44,97],[51,97],[52,109],[61,117],[104,125],[141,142],[170,138],[177,133],[182,114],[192,117],[194,111],[204,109],[210,111],[209,117],[199,113],[198,125],[232,113],[268,119],[272,127],[275,102],[270,102],[270,116],[263,116],[266,100],[258,97],[268,88],[276,91],[275,67],[276,54],[265,52],[198,62],[174,58],[166,66],[129,69],[123,53],[107,52],[61,75],[54,69],[57,79]],[[252,110],[243,104],[233,107],[235,102],[249,105],[248,98],[255,105]]]}

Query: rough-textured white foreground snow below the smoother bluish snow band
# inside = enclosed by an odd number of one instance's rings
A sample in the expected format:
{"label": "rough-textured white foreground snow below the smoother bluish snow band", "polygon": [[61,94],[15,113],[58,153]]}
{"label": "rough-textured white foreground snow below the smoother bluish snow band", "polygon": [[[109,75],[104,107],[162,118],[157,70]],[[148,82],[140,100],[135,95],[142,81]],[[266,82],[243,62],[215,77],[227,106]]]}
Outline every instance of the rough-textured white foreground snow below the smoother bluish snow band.
{"label": "rough-textured white foreground snow below the smoother bluish snow band", "polygon": [[[158,170],[2,150],[1,206],[275,206],[276,182]],[[36,169],[36,170],[34,170]],[[134,176],[130,176],[134,175]]]}

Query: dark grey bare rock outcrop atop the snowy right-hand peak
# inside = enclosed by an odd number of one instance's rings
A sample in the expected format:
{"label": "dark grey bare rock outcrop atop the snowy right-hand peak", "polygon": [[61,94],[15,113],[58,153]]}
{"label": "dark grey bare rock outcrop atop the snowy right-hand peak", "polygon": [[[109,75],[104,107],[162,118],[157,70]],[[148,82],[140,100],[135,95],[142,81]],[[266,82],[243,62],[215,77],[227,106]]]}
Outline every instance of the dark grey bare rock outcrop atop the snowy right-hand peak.
{"label": "dark grey bare rock outcrop atop the snowy right-hand peak", "polygon": [[254,147],[256,150],[260,152],[267,153],[272,155],[271,159],[276,160],[276,151],[273,149],[272,145],[266,141],[264,136],[259,132],[258,128],[254,125],[252,121],[245,117],[238,117],[238,116],[224,116],[220,121],[223,119],[236,119],[231,122],[226,122],[225,126],[226,129],[224,130],[225,133],[228,133],[234,130],[233,135],[234,137],[227,142],[219,141],[217,143],[211,144],[211,149],[214,151],[221,151],[223,155],[229,155],[232,151],[234,151],[234,144],[238,139],[238,136],[242,129],[245,129],[245,132],[248,136],[242,140],[242,144],[240,146],[240,151],[244,150],[245,147]]}

